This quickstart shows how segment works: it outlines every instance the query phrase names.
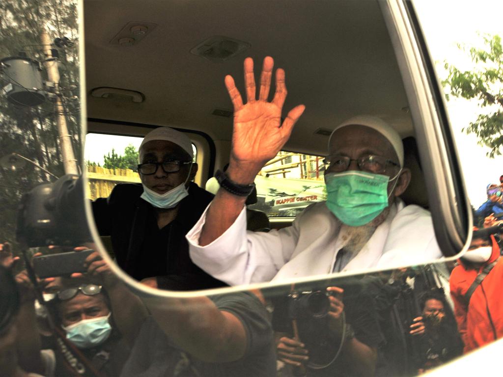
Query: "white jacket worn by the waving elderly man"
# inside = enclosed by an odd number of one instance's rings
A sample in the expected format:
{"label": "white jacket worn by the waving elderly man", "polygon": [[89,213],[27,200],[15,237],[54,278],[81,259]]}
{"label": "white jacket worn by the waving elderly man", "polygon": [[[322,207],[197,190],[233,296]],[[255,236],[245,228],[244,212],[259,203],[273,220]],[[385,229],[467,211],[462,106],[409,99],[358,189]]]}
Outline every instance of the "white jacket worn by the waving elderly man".
{"label": "white jacket worn by the waving elderly man", "polygon": [[[200,246],[206,211],[187,233],[190,256],[203,270],[231,286],[331,273],[338,251],[347,242],[340,231],[341,221],[325,202],[319,202],[299,214],[292,226],[269,233],[246,231],[243,207],[220,237]],[[343,271],[423,264],[441,256],[430,212],[415,205],[405,207],[397,199],[386,220]]]}

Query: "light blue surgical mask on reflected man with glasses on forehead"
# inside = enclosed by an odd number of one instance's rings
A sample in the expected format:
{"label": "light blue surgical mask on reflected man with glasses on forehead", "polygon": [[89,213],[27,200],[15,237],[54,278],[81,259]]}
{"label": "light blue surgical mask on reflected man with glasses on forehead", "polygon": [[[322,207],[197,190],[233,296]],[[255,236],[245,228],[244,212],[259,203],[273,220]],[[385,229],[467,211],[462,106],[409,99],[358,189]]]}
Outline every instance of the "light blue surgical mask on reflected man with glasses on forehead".
{"label": "light blue surgical mask on reflected man with glasses on forehead", "polygon": [[66,339],[75,344],[77,348],[92,348],[105,342],[112,326],[108,319],[110,313],[105,317],[84,319],[70,326],[62,326],[66,331]]}

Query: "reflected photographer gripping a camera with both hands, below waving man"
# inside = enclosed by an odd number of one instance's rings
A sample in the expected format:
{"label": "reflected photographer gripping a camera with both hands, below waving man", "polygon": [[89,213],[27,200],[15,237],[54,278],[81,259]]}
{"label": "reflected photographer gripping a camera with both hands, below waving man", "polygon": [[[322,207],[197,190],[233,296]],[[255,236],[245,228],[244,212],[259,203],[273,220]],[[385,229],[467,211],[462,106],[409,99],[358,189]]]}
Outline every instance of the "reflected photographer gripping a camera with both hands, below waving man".
{"label": "reflected photographer gripping a camera with both hands, below waving man", "polygon": [[302,285],[275,300],[277,356],[286,364],[281,375],[374,375],[383,339],[372,298],[357,280],[338,284],[345,288]]}

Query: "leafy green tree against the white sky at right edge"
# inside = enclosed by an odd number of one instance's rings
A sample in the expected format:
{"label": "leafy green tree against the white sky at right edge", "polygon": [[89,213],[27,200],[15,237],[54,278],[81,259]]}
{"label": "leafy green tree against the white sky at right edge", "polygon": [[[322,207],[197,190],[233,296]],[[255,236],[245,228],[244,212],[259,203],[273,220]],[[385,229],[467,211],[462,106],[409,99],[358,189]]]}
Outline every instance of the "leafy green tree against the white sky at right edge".
{"label": "leafy green tree against the white sky at right edge", "polygon": [[475,68],[462,71],[446,62],[449,74],[443,84],[447,85],[448,94],[478,100],[479,106],[485,109],[463,132],[477,135],[479,145],[491,149],[487,155],[492,158],[502,154],[503,146],[503,48],[497,35],[485,35],[483,39],[485,48],[469,49]]}

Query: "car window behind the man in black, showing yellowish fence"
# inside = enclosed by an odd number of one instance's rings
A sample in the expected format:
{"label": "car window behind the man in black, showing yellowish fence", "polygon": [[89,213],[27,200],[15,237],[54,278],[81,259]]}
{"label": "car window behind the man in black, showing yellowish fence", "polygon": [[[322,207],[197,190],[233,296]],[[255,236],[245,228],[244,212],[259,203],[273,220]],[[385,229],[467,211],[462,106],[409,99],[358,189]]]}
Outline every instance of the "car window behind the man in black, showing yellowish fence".
{"label": "car window behind the man in black, showing yellowish fence", "polygon": [[[117,183],[139,183],[138,148],[143,137],[109,134],[86,136],[84,157],[88,170],[88,198],[106,198]],[[194,150],[194,162],[197,149]]]}

